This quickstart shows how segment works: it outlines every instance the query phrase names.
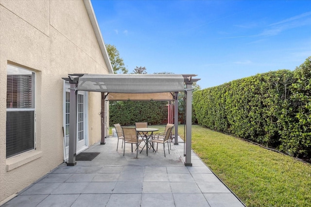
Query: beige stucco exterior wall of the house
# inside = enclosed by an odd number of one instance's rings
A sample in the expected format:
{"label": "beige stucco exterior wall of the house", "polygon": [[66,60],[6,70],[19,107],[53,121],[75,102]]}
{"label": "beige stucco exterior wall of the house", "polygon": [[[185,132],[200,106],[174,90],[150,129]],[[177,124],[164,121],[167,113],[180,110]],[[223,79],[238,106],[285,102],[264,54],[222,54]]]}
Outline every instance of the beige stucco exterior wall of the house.
{"label": "beige stucco exterior wall of the house", "polygon": [[[6,159],[7,64],[35,72],[36,149]],[[63,80],[108,73],[81,0],[0,0],[0,201],[63,162]],[[89,93],[89,145],[100,141],[101,94]]]}

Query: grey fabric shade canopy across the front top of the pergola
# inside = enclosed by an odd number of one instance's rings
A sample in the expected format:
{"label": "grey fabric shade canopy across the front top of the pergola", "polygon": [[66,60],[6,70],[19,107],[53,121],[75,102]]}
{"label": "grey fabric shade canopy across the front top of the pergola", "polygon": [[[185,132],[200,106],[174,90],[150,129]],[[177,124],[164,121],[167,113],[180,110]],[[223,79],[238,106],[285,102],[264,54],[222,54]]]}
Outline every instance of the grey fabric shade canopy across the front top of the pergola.
{"label": "grey fabric shade canopy across the front top of the pergola", "polygon": [[184,91],[184,77],[176,74],[85,74],[78,91],[102,93],[163,93]]}

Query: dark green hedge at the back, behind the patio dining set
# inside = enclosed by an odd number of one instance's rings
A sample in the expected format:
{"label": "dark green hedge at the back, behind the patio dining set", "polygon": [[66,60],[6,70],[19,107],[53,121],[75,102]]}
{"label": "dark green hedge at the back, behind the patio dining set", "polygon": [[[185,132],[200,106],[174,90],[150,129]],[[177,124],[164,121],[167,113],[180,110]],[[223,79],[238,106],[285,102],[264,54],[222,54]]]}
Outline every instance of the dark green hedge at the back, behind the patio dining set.
{"label": "dark green hedge at the back, behind the patio dining set", "polygon": [[167,123],[167,101],[110,101],[110,124],[123,126],[135,122],[148,122],[151,125]]}

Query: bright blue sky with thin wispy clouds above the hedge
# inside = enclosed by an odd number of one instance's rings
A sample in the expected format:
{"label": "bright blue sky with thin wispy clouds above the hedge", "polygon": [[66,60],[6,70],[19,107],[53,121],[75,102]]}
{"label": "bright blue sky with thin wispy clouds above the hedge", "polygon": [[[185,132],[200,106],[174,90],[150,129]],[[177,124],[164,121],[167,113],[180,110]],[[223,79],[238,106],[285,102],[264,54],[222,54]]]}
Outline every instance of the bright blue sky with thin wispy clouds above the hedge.
{"label": "bright blue sky with thin wispy clouds above the hedge", "polygon": [[208,88],[311,56],[310,0],[91,0],[129,73],[197,74]]}

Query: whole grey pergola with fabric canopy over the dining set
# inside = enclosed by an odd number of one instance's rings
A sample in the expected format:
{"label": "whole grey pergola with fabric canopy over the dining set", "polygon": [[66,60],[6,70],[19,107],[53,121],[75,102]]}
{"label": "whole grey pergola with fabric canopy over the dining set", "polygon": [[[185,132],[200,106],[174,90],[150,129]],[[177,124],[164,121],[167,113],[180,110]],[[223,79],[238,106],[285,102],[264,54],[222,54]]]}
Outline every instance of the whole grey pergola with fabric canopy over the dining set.
{"label": "whole grey pergola with fabric canopy over the dining set", "polygon": [[[76,164],[76,127],[77,127],[77,92],[90,91],[102,93],[102,111],[108,100],[155,100],[174,101],[174,137],[178,137],[178,92],[186,96],[186,150],[185,166],[191,163],[191,119],[192,119],[192,83],[194,74],[69,74],[63,78],[70,83],[69,109],[69,160],[67,165]],[[102,114],[105,117],[105,114]],[[106,138],[106,119],[102,125],[101,144]],[[178,144],[178,139],[174,139]]]}

